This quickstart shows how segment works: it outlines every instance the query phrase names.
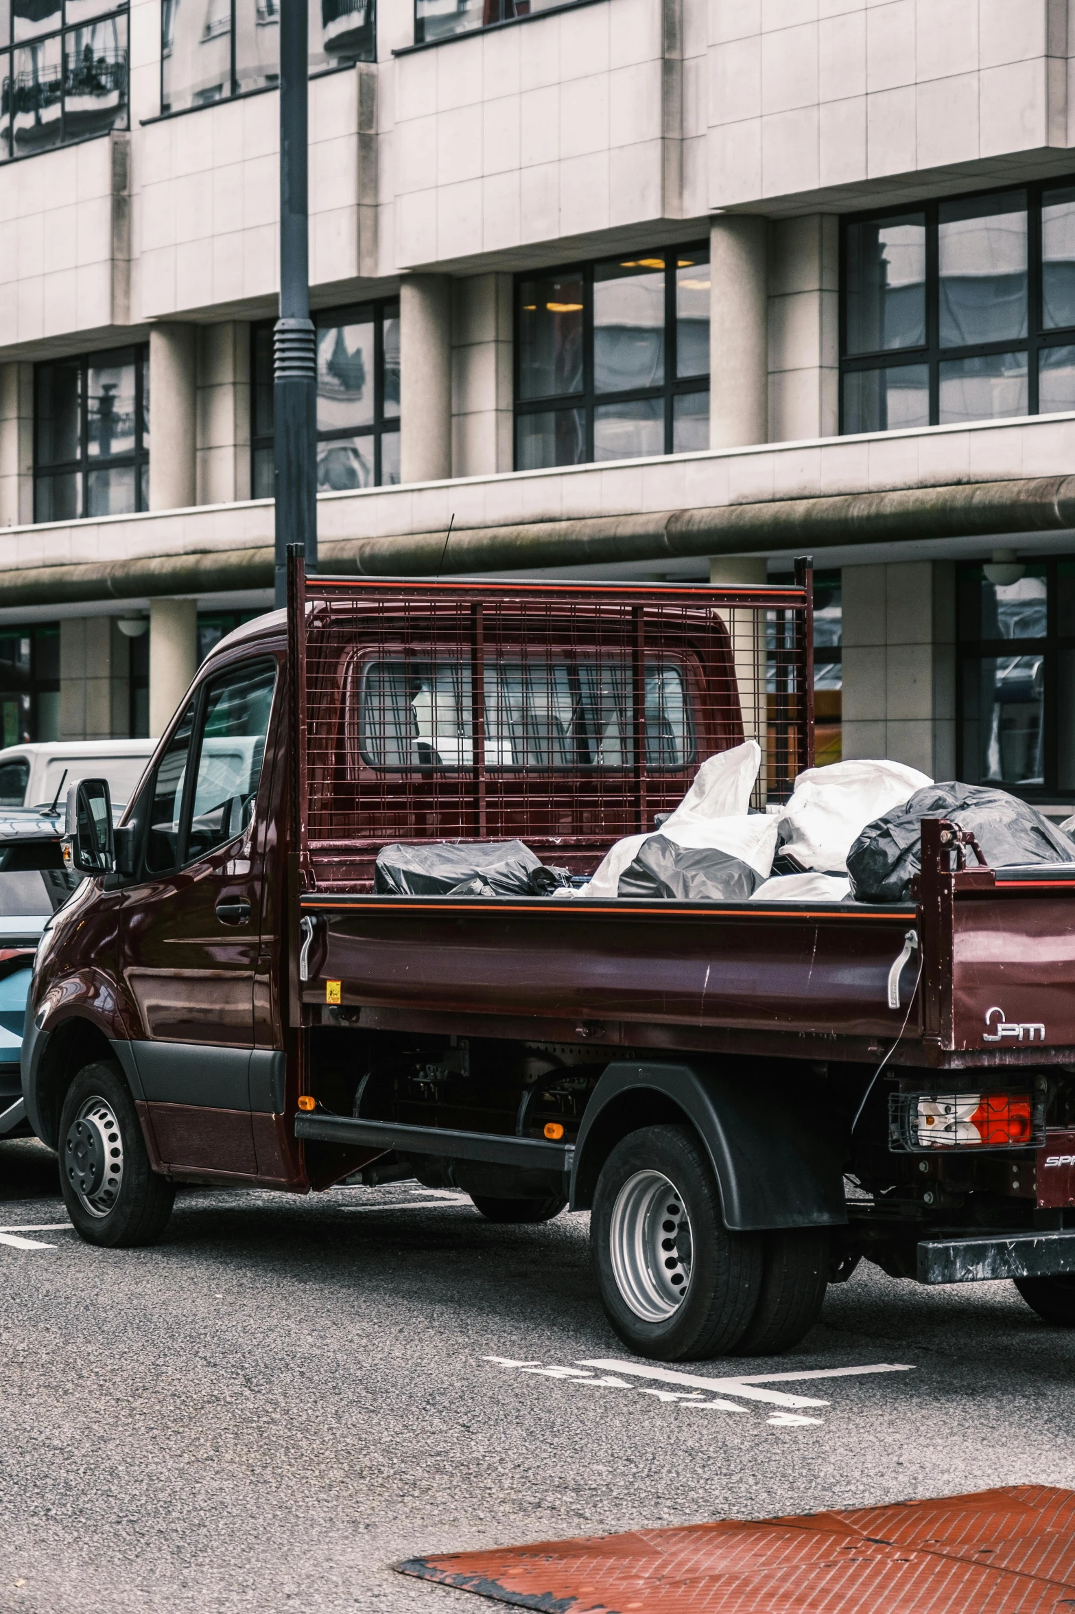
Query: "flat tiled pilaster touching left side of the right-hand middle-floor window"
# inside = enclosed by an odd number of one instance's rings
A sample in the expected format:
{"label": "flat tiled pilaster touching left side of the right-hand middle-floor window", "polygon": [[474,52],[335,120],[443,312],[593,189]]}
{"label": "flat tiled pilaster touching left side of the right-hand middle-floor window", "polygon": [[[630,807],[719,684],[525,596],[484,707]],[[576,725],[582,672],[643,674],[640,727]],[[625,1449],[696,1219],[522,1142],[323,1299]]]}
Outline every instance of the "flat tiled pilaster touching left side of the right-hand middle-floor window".
{"label": "flat tiled pilaster touching left side of the right-hand middle-floor window", "polygon": [[835,437],[840,387],[840,221],[769,228],[769,441]]}

